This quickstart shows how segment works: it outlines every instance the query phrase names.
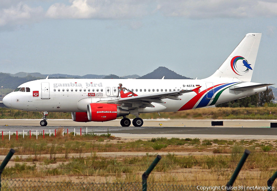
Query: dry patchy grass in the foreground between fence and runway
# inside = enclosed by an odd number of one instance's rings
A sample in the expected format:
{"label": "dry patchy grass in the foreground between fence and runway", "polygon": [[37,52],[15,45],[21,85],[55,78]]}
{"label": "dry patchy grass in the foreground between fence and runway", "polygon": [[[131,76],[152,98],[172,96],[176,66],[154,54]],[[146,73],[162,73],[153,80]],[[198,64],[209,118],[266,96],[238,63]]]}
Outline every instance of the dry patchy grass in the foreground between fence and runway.
{"label": "dry patchy grass in the foreground between fence and runway", "polygon": [[[104,141],[99,141],[100,138]],[[58,139],[54,137],[38,140],[28,138],[8,141],[4,139],[0,142],[2,155],[6,155],[11,147],[16,149],[13,159],[15,164],[5,168],[2,173],[4,178],[32,180],[32,178],[41,177],[47,180],[55,177],[57,181],[58,177],[61,177],[61,180],[65,177],[72,177],[75,181],[84,181],[86,178],[94,177],[93,182],[138,182],[141,181],[142,173],[150,166],[158,152],[168,153],[162,156],[162,160],[154,168],[149,176],[149,182],[226,185],[245,149],[250,150],[251,154],[243,165],[241,176],[236,180],[236,184],[265,184],[277,168],[275,140],[159,137],[148,140],[121,141],[120,138],[105,134],[91,134],[75,137],[66,135]],[[143,151],[146,154],[127,157],[97,155],[97,152],[119,151]],[[174,151],[187,152],[189,155],[178,156]],[[84,152],[90,154],[83,156]],[[202,154],[192,155],[191,152]],[[72,153],[74,153],[73,156]],[[207,155],[207,153],[215,154]],[[58,156],[58,154],[62,155]],[[22,155],[29,156],[23,157]]]}

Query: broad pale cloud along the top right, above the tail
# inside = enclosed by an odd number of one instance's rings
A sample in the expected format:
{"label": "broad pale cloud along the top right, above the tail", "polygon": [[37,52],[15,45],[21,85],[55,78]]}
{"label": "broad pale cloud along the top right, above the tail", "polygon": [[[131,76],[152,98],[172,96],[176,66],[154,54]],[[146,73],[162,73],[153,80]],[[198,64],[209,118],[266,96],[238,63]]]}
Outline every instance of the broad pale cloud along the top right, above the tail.
{"label": "broad pale cloud along the top right, above the tail", "polygon": [[277,2],[270,0],[157,0],[156,10],[166,16],[192,19],[277,16]]}

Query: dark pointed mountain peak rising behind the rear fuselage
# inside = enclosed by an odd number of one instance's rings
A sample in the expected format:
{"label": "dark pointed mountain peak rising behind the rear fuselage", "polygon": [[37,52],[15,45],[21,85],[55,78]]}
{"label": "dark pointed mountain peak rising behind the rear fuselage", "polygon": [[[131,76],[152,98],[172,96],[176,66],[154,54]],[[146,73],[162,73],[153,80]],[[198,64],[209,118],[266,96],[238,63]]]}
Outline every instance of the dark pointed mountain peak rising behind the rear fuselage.
{"label": "dark pointed mountain peak rising behind the rear fuselage", "polygon": [[160,66],[159,68],[155,69],[153,72],[148,73],[142,77],[139,77],[138,79],[162,79],[163,76],[164,76],[164,79],[192,79],[192,78],[177,74],[176,72],[163,66]]}

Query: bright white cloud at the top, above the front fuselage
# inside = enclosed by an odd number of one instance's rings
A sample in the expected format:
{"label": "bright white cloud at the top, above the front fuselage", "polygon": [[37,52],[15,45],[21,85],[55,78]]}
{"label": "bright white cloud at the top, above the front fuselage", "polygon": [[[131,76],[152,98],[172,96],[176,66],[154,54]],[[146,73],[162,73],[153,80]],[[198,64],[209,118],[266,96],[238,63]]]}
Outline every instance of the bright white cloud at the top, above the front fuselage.
{"label": "bright white cloud at the top, above the front fuselage", "polygon": [[147,15],[147,4],[138,0],[73,0],[55,3],[46,16],[55,19],[129,19]]}

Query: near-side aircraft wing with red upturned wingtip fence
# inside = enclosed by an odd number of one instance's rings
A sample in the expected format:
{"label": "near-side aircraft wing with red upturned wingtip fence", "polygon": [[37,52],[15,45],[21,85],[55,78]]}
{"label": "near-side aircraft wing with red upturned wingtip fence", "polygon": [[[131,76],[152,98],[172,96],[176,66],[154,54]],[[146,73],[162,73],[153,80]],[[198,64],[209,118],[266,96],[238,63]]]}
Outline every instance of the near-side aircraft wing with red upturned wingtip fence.
{"label": "near-side aircraft wing with red upturned wingtip fence", "polygon": [[[200,86],[201,87],[201,86]],[[195,92],[199,93],[199,88],[197,87],[192,90],[179,90],[179,91],[172,91],[172,92],[161,92],[161,93],[152,93],[147,95],[139,95],[139,96],[132,96],[127,98],[119,98],[118,100],[109,100],[108,103],[114,103],[119,105],[124,105],[128,107],[154,107],[151,102],[155,103],[165,103],[162,99],[168,98],[173,100],[181,100],[178,96],[183,95],[183,93],[188,92]]]}

